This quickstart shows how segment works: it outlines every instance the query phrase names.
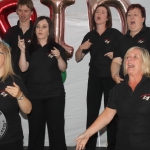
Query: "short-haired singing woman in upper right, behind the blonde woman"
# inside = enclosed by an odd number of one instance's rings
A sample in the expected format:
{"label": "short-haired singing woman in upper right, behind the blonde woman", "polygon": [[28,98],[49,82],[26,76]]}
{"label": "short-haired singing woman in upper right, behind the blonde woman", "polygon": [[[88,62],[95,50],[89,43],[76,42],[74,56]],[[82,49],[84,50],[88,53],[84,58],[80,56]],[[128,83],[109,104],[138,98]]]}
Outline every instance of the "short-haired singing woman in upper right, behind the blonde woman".
{"label": "short-haired singing woman in upper right, behind the blonde woman", "polygon": [[145,25],[145,8],[140,4],[131,4],[127,9],[126,18],[129,30],[115,44],[111,63],[111,74],[116,83],[123,81],[122,62],[130,47],[139,46],[150,52],[150,28]]}

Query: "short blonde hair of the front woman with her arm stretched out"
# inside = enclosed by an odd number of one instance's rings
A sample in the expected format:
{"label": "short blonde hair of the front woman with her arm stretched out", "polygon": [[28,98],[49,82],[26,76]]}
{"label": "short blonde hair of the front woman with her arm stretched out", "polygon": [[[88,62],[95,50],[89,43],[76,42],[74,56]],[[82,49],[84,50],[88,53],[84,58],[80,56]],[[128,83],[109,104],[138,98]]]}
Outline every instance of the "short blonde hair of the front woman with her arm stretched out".
{"label": "short blonde hair of the front woman with her arm stretched out", "polygon": [[138,49],[141,52],[143,75],[150,77],[150,54],[149,54],[148,50],[138,47],[138,46],[134,46],[134,47],[131,47],[130,49],[128,49],[128,51],[126,52],[126,54],[124,56],[124,63],[123,63],[124,75],[127,74],[127,70],[125,67],[127,53],[133,49]]}

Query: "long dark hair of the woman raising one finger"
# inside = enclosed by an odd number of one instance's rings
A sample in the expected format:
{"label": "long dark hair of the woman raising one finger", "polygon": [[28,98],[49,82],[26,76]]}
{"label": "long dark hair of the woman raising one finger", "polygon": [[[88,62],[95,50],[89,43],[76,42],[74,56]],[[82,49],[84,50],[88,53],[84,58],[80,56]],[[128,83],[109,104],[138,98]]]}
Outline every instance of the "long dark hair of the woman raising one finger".
{"label": "long dark hair of the woman raising one finger", "polygon": [[40,16],[36,19],[34,25],[33,25],[33,30],[32,30],[32,37],[31,37],[31,44],[32,45],[36,45],[38,44],[38,39],[35,33],[36,30],[36,26],[39,23],[39,21],[41,20],[46,20],[48,23],[48,28],[49,28],[49,34],[48,34],[48,38],[47,38],[47,44],[54,44],[55,43],[55,38],[54,38],[54,28],[53,28],[53,23],[51,21],[51,19],[47,16]]}

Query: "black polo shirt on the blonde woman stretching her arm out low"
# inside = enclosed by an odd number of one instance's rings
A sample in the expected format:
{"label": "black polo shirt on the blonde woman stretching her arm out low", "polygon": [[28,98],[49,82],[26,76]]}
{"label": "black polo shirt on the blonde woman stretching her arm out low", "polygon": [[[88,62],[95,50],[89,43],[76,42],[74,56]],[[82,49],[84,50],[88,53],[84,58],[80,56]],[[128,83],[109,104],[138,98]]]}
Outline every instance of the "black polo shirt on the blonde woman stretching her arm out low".
{"label": "black polo shirt on the blonde woman stretching her arm out low", "polygon": [[128,76],[110,90],[107,107],[119,115],[119,131],[125,134],[150,133],[150,78],[143,76],[132,91]]}

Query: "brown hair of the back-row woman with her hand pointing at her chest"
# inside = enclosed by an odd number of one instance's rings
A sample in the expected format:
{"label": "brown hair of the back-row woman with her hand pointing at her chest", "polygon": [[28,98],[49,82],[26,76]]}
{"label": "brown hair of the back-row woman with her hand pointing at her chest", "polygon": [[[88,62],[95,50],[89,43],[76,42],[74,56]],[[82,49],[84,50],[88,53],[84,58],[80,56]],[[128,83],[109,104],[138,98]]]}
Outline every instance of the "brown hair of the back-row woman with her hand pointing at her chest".
{"label": "brown hair of the back-row woman with her hand pointing at her chest", "polygon": [[108,19],[107,22],[106,22],[106,28],[111,28],[112,27],[112,15],[111,15],[110,8],[105,4],[100,4],[95,8],[95,10],[93,12],[93,16],[92,16],[92,23],[93,23],[94,29],[96,29],[96,22],[95,22],[94,17],[95,17],[95,13],[96,13],[96,11],[99,7],[105,7],[106,8],[106,10],[107,10],[107,19]]}

